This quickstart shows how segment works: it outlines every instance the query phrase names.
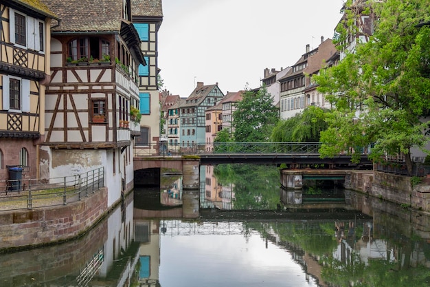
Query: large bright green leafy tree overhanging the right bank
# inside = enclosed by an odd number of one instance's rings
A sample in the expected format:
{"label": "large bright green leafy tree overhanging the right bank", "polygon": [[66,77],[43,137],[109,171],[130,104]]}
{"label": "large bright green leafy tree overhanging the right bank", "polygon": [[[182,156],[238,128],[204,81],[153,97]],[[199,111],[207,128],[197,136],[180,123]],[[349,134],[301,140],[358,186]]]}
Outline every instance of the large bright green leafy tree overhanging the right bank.
{"label": "large bright green leafy tree overhanging the right bank", "polygon": [[[425,146],[429,128],[423,120],[430,107],[429,2],[359,2],[370,3],[371,9],[355,10],[348,0],[346,18],[337,28],[339,41],[357,32],[350,27],[363,14],[374,13],[378,19],[374,34],[358,43],[354,53],[339,45],[346,58],[314,76],[319,91],[336,107],[328,117],[329,128],[321,132],[321,156],[372,144],[371,159],[399,153],[411,174],[411,148]],[[358,156],[354,153],[353,160]]]}

